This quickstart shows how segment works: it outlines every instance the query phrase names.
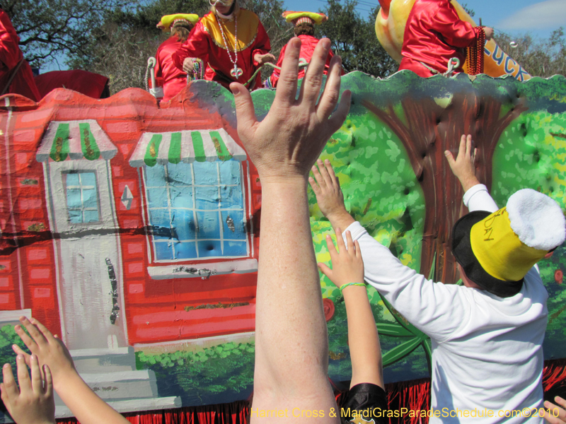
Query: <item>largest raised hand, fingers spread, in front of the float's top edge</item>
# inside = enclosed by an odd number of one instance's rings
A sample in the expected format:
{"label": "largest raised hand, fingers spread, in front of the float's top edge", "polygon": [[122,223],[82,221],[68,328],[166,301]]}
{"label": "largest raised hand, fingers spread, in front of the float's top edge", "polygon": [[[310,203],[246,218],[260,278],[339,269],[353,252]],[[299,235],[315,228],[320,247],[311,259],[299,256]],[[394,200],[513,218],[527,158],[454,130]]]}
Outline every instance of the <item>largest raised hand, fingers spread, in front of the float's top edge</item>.
{"label": "largest raised hand, fingers spread, in front of the float's top edge", "polygon": [[248,90],[240,83],[231,83],[238,135],[258,169],[262,184],[289,178],[306,179],[326,142],[346,119],[351,97],[348,90],[342,93],[340,104],[333,113],[340,97],[340,57],[335,56],[330,61],[326,86],[317,103],[329,50],[328,38],[318,42],[296,99],[301,40],[291,39],[275,100],[262,122],[255,117]]}

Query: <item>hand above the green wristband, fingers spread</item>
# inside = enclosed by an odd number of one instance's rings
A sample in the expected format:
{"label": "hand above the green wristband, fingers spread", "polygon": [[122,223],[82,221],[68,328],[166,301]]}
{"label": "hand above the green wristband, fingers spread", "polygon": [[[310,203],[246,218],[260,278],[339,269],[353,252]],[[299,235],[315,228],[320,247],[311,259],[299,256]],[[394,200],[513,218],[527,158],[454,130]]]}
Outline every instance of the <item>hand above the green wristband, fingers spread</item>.
{"label": "hand above the green wristband, fingers spread", "polygon": [[327,235],[326,245],[328,246],[328,252],[330,252],[332,269],[326,264],[318,264],[320,271],[330,278],[330,281],[337,288],[347,283],[364,283],[364,262],[362,261],[362,252],[359,251],[359,244],[357,240],[352,242],[350,231],[346,231],[346,240],[348,242],[347,248],[344,244],[344,239],[342,239],[342,232],[340,232],[340,228],[337,228],[336,241],[339,252],[336,252],[330,235]]}

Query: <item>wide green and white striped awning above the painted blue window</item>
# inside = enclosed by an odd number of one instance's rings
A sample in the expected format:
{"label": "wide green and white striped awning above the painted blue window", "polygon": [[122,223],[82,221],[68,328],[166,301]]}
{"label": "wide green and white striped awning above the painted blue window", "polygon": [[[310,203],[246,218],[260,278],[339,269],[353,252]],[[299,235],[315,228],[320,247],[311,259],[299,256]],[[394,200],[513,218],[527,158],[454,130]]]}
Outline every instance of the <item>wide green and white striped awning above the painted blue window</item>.
{"label": "wide green and white striped awning above the painted blue window", "polygon": [[157,163],[214,162],[246,160],[246,152],[225,129],[200,129],[165,133],[144,133],[129,159],[129,165],[154,166]]}

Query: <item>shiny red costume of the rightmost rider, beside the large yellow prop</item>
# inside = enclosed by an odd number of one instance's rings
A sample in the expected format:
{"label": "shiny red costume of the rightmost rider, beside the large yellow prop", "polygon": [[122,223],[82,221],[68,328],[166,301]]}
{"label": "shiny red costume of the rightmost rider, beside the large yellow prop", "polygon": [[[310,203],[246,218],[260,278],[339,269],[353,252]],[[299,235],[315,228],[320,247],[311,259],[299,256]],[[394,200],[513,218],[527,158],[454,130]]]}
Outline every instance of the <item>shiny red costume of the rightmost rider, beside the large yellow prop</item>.
{"label": "shiny red costume of the rightmost rider, beside the large yellow prop", "polygon": [[[444,73],[452,57],[460,59],[462,66],[466,47],[475,45],[479,30],[461,20],[449,0],[417,0],[405,26],[399,70],[410,69],[422,77],[433,76],[435,73],[427,66]],[[461,66],[455,71],[463,72]]]}

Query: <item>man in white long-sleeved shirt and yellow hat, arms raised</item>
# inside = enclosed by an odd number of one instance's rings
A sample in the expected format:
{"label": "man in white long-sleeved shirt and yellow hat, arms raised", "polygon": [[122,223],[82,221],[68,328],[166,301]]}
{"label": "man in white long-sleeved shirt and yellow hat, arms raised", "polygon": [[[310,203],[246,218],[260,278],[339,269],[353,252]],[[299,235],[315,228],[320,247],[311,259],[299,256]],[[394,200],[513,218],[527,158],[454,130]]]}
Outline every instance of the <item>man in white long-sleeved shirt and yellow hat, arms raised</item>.
{"label": "man in white long-sleeved shirt and yellow hat, arms raised", "polygon": [[328,161],[318,162],[320,171],[313,167],[316,182],[309,182],[337,232],[350,231],[359,242],[366,281],[430,336],[430,422],[542,422],[548,293],[535,264],[564,242],[564,215],[555,201],[530,189],[497,211],[475,177],[471,144],[471,136],[462,137],[456,160],[446,152],[470,210],[453,232],[463,286],[428,281],[376,242],[347,213]]}

